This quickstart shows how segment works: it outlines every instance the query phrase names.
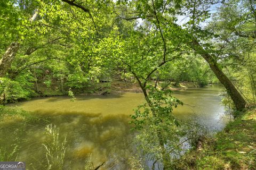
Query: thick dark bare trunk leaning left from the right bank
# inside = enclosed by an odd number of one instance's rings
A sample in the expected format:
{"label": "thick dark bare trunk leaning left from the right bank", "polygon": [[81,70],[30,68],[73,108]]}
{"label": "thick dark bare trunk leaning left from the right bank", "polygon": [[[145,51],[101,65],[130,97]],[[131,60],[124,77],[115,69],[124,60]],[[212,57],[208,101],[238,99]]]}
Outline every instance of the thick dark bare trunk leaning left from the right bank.
{"label": "thick dark bare trunk leaning left from the right bank", "polygon": [[238,111],[241,111],[243,108],[245,108],[246,101],[244,100],[242,95],[239,94],[234,84],[231,83],[228,77],[222,72],[215,58],[211,54],[206,52],[206,50],[198,43],[195,38],[190,43],[187,43],[187,45],[190,48],[194,49],[196,53],[200,54],[209,63],[211,70],[214,72],[214,74],[217,76],[223,86],[225,86],[225,88],[227,89],[227,92],[233,100],[236,109]]}

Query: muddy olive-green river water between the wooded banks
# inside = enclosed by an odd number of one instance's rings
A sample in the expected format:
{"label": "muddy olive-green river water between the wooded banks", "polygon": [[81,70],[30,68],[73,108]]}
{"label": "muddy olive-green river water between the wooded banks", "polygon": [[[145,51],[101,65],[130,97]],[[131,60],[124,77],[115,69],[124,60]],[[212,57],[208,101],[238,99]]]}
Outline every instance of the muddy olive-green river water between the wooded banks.
{"label": "muddy olive-green river water between the wooded banks", "polygon": [[[175,91],[173,96],[185,105],[174,109],[174,115],[201,123],[210,132],[221,130],[227,121],[220,105],[220,86]],[[105,96],[34,98],[14,105],[33,111],[42,120],[7,120],[0,123],[0,145],[11,152],[18,145],[17,161],[25,161],[27,169],[43,169],[46,150],[45,127],[54,124],[60,129],[60,139],[67,135],[65,166],[84,169],[90,157],[94,166],[106,162],[101,169],[125,169],[131,157],[129,115],[144,102],[141,93]],[[122,168],[121,168],[122,167]]]}

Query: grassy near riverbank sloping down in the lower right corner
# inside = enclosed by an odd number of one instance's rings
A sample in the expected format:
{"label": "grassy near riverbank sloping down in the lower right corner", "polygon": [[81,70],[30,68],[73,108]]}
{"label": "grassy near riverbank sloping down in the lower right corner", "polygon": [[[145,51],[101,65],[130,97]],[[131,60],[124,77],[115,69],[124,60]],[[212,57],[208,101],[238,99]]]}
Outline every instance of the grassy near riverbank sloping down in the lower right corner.
{"label": "grassy near riverbank sloping down in the lower right corner", "polygon": [[185,154],[176,169],[256,169],[256,108]]}

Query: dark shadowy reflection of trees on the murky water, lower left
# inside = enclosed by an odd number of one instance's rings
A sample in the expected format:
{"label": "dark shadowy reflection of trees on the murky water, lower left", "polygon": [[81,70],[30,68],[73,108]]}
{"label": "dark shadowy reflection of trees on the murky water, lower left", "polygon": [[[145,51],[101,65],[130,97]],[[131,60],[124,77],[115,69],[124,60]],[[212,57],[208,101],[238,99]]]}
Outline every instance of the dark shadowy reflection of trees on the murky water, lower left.
{"label": "dark shadowy reflection of trees on the murky water, lower left", "polygon": [[[11,148],[14,143],[19,143],[18,158],[26,161],[27,167],[33,164],[37,168],[38,162],[46,161],[42,143],[45,141],[45,126],[50,123],[60,128],[61,140],[67,134],[65,161],[74,164],[74,167],[83,168],[90,155],[95,166],[102,162],[106,162],[104,166],[123,166],[124,160],[131,155],[129,147],[132,134],[127,115],[81,115],[76,112],[43,112],[37,115],[37,120],[1,125],[1,145]],[[6,142],[9,138],[12,140]],[[13,140],[15,138],[17,140]]]}

